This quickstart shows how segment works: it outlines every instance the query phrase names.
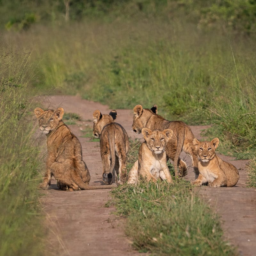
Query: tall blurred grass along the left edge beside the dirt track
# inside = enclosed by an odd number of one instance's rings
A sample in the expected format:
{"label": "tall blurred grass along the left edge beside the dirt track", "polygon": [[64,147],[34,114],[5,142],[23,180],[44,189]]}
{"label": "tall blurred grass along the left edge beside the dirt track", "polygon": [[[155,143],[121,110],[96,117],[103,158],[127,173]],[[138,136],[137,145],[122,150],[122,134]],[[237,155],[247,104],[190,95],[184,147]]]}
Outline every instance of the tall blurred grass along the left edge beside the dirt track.
{"label": "tall blurred grass along the left edge beside the dirt track", "polygon": [[38,150],[31,140],[29,53],[0,43],[0,255],[43,255]]}

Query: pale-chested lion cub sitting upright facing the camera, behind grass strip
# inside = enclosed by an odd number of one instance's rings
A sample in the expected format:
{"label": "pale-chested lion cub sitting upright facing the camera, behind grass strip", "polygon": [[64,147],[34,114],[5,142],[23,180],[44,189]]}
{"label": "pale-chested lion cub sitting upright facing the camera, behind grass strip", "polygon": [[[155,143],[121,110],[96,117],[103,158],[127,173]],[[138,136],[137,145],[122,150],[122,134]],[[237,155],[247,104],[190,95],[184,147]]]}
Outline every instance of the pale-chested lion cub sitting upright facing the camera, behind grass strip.
{"label": "pale-chested lion cub sitting upright facing the camera, behind grass strip", "polygon": [[156,182],[158,178],[172,183],[172,176],[167,167],[165,146],[172,138],[172,130],[165,129],[163,132],[149,128],[143,128],[141,133],[145,141],[139,149],[139,159],[134,163],[129,172],[128,184],[137,184],[138,177],[146,178],[147,181]]}

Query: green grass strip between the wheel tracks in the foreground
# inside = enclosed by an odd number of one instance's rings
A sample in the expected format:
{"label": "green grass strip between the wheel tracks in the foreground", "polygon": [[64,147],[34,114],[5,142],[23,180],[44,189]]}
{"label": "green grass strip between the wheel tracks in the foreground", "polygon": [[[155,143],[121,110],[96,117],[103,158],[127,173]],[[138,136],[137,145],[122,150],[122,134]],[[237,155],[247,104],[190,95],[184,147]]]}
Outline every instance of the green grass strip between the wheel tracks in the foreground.
{"label": "green grass strip between the wheel tracks in the foreground", "polygon": [[222,240],[218,216],[202,203],[190,183],[141,183],[111,192],[117,214],[127,217],[126,233],[140,251],[152,255],[238,255]]}

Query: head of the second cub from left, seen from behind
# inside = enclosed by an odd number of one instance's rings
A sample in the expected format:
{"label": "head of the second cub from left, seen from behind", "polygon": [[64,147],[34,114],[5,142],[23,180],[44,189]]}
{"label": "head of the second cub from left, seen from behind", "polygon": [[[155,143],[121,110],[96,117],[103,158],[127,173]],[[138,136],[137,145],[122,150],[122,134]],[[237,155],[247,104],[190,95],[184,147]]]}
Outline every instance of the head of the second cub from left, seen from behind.
{"label": "head of the second cub from left, seen from behind", "polygon": [[96,109],[93,112],[93,135],[95,136],[95,138],[100,138],[100,134],[103,130],[103,127],[106,124],[114,123],[114,121],[116,120],[116,116],[116,110],[111,110],[109,112],[109,115],[102,115],[99,109]]}

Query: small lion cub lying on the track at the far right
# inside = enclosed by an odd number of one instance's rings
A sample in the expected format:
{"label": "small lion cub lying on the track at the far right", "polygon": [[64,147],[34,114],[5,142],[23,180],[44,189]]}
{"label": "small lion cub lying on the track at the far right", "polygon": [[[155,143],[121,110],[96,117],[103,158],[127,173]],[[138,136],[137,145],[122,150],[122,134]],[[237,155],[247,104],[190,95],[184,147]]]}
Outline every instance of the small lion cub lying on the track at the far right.
{"label": "small lion cub lying on the track at the far right", "polygon": [[209,187],[233,187],[236,185],[239,180],[239,173],[236,167],[223,161],[215,154],[215,149],[219,146],[219,142],[218,138],[203,142],[196,138],[193,140],[199,159],[199,176],[192,184],[201,186],[208,182]]}

